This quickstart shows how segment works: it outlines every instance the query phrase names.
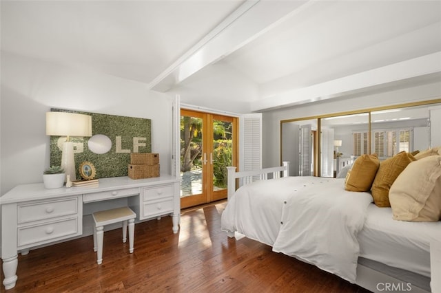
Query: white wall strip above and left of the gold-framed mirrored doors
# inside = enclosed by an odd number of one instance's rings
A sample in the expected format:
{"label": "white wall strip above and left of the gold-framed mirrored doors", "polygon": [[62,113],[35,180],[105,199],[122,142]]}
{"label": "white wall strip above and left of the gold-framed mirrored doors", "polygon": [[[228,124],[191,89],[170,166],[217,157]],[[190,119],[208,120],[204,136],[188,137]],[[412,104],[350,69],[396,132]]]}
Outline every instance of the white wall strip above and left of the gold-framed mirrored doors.
{"label": "white wall strip above and left of the gold-framed mirrored doors", "polygon": [[358,109],[369,109],[384,105],[433,100],[441,97],[441,82],[424,85],[409,85],[400,89],[382,89],[371,93],[356,94],[311,103],[298,107],[287,107],[263,113],[263,167],[280,164],[280,120],[319,116]]}

